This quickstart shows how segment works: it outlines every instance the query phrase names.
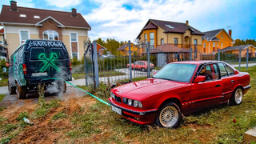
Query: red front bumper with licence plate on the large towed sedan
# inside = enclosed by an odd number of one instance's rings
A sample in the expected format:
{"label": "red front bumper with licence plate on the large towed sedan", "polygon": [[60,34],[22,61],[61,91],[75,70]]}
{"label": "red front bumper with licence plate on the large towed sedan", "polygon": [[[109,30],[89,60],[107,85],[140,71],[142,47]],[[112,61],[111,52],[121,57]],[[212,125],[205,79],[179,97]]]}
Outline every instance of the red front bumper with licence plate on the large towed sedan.
{"label": "red front bumper with licence plate on the large towed sedan", "polygon": [[121,113],[119,114],[121,114],[122,117],[129,119],[131,122],[136,122],[142,125],[154,123],[154,119],[158,111],[157,109],[134,110],[133,108],[129,108],[128,106],[120,106],[120,103],[115,102],[113,98],[109,98],[109,102],[111,106],[114,106],[115,108],[121,110]]}

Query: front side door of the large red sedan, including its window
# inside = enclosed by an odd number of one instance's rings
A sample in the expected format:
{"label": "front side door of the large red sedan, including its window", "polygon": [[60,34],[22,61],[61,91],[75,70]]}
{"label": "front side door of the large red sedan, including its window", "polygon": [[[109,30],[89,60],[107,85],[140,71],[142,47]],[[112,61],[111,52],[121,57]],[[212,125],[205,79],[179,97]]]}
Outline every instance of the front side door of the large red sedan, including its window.
{"label": "front side door of the large red sedan, including its window", "polygon": [[[217,105],[222,98],[222,79],[219,78],[217,64],[206,64],[206,71],[210,78],[205,82],[192,83],[191,103],[194,110],[201,110],[205,107]],[[203,69],[201,66],[199,69]],[[201,70],[198,75],[201,75]]]}

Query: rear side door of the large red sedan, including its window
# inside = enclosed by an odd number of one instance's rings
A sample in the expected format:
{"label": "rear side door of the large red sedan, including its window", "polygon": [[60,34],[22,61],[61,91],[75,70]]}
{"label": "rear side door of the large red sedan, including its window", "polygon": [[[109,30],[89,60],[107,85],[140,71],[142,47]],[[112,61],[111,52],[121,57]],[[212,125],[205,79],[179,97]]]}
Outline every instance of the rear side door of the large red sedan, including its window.
{"label": "rear side door of the large red sedan, including its window", "polygon": [[234,86],[235,86],[235,81],[234,81],[234,70],[230,68],[230,66],[227,66],[225,63],[219,62],[218,67],[220,70],[221,78],[222,78],[222,83],[223,83],[223,92],[222,95],[224,96],[222,98],[222,102],[226,102],[230,99]]}

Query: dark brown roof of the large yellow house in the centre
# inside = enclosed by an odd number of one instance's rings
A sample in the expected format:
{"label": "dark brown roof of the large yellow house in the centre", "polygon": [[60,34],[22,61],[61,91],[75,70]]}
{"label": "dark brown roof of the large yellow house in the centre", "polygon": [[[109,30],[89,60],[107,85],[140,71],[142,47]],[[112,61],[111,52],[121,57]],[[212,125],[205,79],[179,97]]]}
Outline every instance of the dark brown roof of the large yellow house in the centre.
{"label": "dark brown roof of the large yellow house in the centre", "polygon": [[[162,20],[156,20],[156,19],[150,19],[148,22],[146,22],[146,25],[143,27],[142,30],[145,30],[147,26],[150,26],[150,22],[152,22],[154,26],[159,26],[163,30],[165,30],[164,33],[184,34],[186,30],[190,30],[191,34],[204,35],[201,31],[195,29],[194,27],[186,26],[186,23],[169,22],[169,21],[162,21]],[[140,32],[140,34],[142,34],[142,31]],[[138,37],[140,34],[138,34]]]}

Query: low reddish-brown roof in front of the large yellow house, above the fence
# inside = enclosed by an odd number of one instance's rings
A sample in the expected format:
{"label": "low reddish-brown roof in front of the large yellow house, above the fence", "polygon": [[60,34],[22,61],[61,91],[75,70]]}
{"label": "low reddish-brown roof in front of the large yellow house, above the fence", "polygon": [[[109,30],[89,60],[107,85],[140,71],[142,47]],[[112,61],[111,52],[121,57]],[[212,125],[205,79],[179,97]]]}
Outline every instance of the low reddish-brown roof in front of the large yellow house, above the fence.
{"label": "low reddish-brown roof in front of the large yellow house, above the fence", "polygon": [[[162,44],[157,46],[155,49],[150,50],[150,53],[177,53],[177,52],[190,52],[188,49],[183,49],[178,46],[173,46],[170,44]],[[146,52],[144,53],[146,54]]]}

